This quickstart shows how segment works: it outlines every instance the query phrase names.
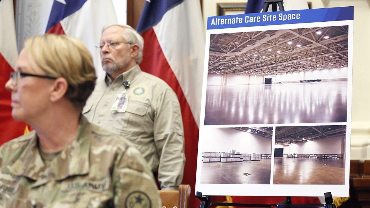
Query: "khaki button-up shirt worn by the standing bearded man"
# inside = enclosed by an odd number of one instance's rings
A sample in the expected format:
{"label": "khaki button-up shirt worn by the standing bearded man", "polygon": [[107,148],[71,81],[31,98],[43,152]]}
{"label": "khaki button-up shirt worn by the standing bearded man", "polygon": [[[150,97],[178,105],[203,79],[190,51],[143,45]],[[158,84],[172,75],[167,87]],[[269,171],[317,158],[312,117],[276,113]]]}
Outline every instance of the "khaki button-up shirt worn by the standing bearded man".
{"label": "khaki button-up shirt worn by the standing bearded man", "polygon": [[[130,81],[125,90],[123,82]],[[129,94],[125,113],[112,113],[117,95]],[[83,110],[87,120],[126,138],[158,172],[162,190],[175,190],[185,165],[184,128],[175,92],[165,81],[141,71],[139,65],[113,82],[97,83]]]}

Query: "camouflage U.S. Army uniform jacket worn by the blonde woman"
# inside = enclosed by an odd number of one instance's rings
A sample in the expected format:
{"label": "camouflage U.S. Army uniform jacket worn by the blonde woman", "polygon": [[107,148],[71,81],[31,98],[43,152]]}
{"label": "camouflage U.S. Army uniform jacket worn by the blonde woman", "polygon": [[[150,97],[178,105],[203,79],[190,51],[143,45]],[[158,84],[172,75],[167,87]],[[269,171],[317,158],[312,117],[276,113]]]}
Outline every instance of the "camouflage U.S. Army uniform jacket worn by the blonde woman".
{"label": "camouflage U.S. Army uniform jacket worn by the blonde woman", "polygon": [[159,208],[157,190],[139,152],[83,116],[77,138],[48,167],[35,131],[0,147],[1,208]]}

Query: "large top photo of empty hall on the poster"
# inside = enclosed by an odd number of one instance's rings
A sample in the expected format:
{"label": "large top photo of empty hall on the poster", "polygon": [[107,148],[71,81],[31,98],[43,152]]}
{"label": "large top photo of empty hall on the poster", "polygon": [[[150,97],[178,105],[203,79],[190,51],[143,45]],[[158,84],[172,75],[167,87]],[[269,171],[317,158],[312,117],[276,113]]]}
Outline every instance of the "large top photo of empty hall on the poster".
{"label": "large top photo of empty hall on the poster", "polygon": [[212,34],[205,125],[347,121],[348,26]]}

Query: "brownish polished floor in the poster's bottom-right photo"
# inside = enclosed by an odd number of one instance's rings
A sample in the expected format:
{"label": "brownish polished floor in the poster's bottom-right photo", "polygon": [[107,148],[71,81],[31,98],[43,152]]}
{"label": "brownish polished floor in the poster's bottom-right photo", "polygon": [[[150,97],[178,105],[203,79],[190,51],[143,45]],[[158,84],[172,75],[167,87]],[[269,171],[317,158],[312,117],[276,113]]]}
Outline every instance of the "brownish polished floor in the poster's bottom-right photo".
{"label": "brownish polished floor in the poster's bottom-right photo", "polygon": [[344,184],[344,160],[274,158],[273,184]]}

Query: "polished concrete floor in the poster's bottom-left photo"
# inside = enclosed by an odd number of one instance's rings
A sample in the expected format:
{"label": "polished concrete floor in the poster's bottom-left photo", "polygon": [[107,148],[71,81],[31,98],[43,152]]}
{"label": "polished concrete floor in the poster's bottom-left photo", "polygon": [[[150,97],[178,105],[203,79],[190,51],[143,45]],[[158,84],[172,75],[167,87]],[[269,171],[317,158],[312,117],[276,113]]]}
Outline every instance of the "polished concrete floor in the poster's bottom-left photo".
{"label": "polished concrete floor in the poster's bottom-left photo", "polygon": [[202,162],[201,184],[270,184],[271,159]]}

